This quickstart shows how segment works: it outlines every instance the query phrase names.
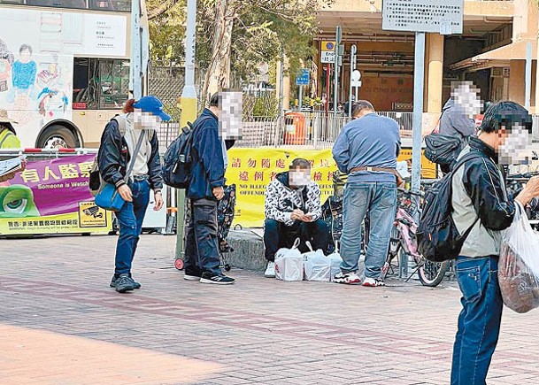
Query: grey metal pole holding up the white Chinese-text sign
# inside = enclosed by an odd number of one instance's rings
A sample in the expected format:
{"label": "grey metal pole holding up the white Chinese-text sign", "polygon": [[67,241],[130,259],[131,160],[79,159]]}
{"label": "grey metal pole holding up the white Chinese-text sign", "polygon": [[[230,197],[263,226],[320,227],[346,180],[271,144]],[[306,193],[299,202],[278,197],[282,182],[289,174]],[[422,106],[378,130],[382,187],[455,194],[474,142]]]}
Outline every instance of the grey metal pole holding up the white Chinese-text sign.
{"label": "grey metal pole holding up the white Chinese-text sign", "polygon": [[[423,89],[425,87],[425,33],[415,34],[415,58],[413,63],[413,131],[412,131],[412,191],[421,188],[421,142],[423,141]],[[419,207],[419,197],[413,197]],[[419,213],[416,213],[416,220]],[[408,256],[402,253],[400,277],[408,276]]]}

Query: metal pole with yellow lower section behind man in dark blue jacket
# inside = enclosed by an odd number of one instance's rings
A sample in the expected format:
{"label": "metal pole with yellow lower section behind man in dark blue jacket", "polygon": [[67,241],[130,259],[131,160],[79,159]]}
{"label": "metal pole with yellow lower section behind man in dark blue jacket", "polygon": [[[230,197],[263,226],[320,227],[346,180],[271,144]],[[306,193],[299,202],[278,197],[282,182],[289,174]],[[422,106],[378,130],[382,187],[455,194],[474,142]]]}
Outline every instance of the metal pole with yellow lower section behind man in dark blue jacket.
{"label": "metal pole with yellow lower section behind man in dark blue jacket", "polygon": [[[181,91],[181,127],[196,120],[195,52],[196,52],[196,0],[187,2],[187,26],[185,32],[185,85]],[[178,189],[178,218],[176,224],[176,258],[183,258],[183,232],[185,220],[185,190]]]}

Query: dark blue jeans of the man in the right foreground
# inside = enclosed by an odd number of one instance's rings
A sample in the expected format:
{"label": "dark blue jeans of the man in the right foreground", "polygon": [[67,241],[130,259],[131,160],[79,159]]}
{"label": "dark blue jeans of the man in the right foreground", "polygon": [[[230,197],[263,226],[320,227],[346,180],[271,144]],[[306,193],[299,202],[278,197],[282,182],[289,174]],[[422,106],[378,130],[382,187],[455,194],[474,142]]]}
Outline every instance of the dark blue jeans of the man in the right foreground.
{"label": "dark blue jeans of the man in the right foreground", "polygon": [[451,385],[483,385],[496,349],[502,320],[497,257],[458,257],[462,311],[453,346]]}

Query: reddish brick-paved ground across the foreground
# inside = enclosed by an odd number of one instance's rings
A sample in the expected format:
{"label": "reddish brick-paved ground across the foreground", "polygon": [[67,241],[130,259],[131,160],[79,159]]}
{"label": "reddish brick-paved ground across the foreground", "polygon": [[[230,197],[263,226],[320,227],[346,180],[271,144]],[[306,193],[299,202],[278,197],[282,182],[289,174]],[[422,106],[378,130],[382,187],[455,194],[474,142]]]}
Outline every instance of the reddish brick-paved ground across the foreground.
{"label": "reddish brick-paved ground across the foreground", "polygon": [[[174,238],[144,235],[142,289],[108,288],[112,236],[0,240],[2,384],[446,384],[454,283],[367,289],[183,281]],[[489,384],[537,384],[539,311],[504,312]]]}

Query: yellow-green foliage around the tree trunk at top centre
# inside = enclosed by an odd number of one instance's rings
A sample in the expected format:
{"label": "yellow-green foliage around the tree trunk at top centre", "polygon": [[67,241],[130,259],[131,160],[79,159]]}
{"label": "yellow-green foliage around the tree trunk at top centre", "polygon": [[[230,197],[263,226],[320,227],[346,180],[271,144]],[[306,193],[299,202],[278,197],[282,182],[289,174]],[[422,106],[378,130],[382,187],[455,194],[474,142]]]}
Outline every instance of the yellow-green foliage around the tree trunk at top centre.
{"label": "yellow-green foliage around the tree trunk at top centre", "polygon": [[[312,38],[317,34],[315,10],[333,0],[202,0],[198,2],[196,26],[196,62],[207,68],[212,59],[215,38],[216,7],[227,2],[227,12],[233,15],[234,29],[230,47],[232,72],[243,83],[258,74],[258,65],[268,63],[273,68],[281,58],[288,58],[289,72],[306,66],[315,49]],[[148,10],[162,6],[159,0],[149,0]],[[173,1],[158,17],[150,20],[151,56],[161,61],[181,62],[185,35],[186,0]],[[270,73],[271,82],[275,81]]]}

